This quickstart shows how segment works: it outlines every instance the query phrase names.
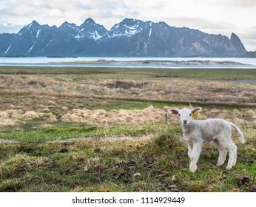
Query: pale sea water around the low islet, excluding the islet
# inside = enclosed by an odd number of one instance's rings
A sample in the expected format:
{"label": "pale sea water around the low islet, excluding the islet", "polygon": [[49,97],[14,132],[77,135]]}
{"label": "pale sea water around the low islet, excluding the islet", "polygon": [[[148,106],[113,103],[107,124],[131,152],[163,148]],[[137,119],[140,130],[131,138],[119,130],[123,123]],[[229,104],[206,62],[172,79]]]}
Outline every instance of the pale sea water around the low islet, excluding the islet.
{"label": "pale sea water around the low islet, excluding the islet", "polygon": [[[98,60],[106,61],[232,61],[243,65],[164,65],[164,64],[103,64]],[[81,63],[81,62],[85,63]],[[95,61],[86,63],[88,61]],[[183,67],[204,67],[204,68],[256,68],[256,58],[121,58],[121,57],[77,57],[77,58],[5,58],[0,57],[1,66],[38,66],[38,67],[142,67],[142,68],[183,68]]]}

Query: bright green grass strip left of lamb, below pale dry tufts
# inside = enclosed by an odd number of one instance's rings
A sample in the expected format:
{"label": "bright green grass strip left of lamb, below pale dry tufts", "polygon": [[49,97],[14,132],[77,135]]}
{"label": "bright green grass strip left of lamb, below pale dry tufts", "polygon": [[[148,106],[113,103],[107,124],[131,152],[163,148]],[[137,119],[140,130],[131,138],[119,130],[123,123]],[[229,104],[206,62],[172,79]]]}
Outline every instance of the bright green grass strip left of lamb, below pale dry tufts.
{"label": "bright green grass strip left of lamb, below pale dry tufts", "polygon": [[[67,123],[69,125],[69,123]],[[71,123],[70,123],[71,125]],[[42,143],[51,140],[64,140],[67,138],[82,137],[140,137],[151,135],[163,126],[53,126],[42,130],[0,132],[0,138],[21,141],[22,143]]]}

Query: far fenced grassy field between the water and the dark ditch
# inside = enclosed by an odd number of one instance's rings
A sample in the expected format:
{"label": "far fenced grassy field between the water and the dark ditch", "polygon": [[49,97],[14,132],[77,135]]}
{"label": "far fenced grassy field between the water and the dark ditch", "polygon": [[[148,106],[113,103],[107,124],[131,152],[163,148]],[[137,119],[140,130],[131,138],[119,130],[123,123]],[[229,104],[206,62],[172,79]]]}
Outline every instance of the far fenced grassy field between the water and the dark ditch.
{"label": "far fenced grassy field between the water and the dark ditch", "polygon": [[255,104],[255,80],[256,69],[0,67],[2,92],[54,92],[161,101]]}

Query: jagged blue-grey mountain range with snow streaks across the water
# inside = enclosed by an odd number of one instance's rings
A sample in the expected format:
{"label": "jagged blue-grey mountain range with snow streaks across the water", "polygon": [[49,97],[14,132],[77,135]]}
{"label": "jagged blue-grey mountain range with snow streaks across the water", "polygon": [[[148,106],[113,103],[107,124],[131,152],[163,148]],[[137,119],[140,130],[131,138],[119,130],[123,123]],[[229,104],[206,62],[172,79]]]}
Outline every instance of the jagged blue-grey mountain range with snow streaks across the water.
{"label": "jagged blue-grey mountain range with snow streaks across the water", "polygon": [[0,34],[0,56],[240,57],[238,35],[210,35],[161,21],[125,18],[110,30],[87,18],[80,26],[32,21],[17,34]]}

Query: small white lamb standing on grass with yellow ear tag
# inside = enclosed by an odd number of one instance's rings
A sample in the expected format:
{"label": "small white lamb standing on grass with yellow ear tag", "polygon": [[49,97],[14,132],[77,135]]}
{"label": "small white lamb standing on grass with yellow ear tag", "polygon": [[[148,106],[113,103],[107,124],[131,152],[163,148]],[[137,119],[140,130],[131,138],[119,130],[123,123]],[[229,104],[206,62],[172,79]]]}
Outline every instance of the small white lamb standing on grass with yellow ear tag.
{"label": "small white lamb standing on grass with yellow ear tag", "polygon": [[213,141],[219,151],[217,166],[222,166],[224,164],[226,154],[229,152],[229,161],[226,169],[232,169],[237,160],[237,146],[235,146],[235,143],[232,142],[231,138],[232,127],[238,131],[241,143],[245,143],[243,132],[241,132],[235,123],[224,119],[213,118],[203,121],[193,120],[192,116],[197,115],[201,110],[202,108],[200,107],[194,109],[183,108],[180,110],[168,110],[169,113],[180,116],[183,139],[188,146],[190,171],[196,171],[203,143],[209,141]]}

